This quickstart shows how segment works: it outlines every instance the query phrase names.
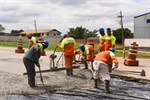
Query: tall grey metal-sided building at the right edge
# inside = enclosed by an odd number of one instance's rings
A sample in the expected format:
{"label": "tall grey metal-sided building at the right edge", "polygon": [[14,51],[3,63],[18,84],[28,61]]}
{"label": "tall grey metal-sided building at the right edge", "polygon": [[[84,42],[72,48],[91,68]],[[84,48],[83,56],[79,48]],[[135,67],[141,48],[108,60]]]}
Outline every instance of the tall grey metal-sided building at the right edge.
{"label": "tall grey metal-sided building at the right edge", "polygon": [[150,12],[134,17],[134,38],[150,38]]}

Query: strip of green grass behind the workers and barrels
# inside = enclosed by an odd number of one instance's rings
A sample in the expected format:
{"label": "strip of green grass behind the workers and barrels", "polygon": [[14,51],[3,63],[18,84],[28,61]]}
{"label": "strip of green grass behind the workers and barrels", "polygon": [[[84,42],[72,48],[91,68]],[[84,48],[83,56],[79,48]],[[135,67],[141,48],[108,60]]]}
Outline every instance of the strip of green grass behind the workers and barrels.
{"label": "strip of green grass behind the workers and barrels", "polygon": [[[60,44],[60,42],[50,42],[49,43],[49,47],[47,48],[47,50],[54,50],[56,45]],[[77,43],[75,45],[75,50],[79,48],[81,43]],[[17,42],[11,42],[11,41],[0,41],[0,46],[9,46],[9,47],[17,47]],[[28,47],[28,42],[23,42],[23,48],[27,48]],[[98,44],[94,45],[95,47],[95,52],[97,51],[98,48]],[[122,56],[122,45],[116,45],[115,46],[116,52],[115,55],[121,57]],[[56,51],[61,51],[60,49],[57,49]],[[126,50],[125,56],[128,56],[128,50]],[[137,57],[139,58],[150,58],[150,54],[146,54],[146,53],[138,53]]]}

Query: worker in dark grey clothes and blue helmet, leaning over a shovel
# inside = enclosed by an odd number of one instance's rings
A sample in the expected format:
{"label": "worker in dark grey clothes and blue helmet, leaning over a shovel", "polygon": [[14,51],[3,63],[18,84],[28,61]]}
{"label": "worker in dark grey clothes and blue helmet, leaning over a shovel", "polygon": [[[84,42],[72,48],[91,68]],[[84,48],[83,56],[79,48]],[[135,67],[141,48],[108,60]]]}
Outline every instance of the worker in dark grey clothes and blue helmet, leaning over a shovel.
{"label": "worker in dark grey clothes and blue helmet, leaning over a shovel", "polygon": [[43,43],[37,43],[27,50],[23,57],[23,62],[28,74],[28,84],[30,87],[35,87],[35,65],[40,67],[39,58],[42,50],[47,48],[49,42],[44,40]]}

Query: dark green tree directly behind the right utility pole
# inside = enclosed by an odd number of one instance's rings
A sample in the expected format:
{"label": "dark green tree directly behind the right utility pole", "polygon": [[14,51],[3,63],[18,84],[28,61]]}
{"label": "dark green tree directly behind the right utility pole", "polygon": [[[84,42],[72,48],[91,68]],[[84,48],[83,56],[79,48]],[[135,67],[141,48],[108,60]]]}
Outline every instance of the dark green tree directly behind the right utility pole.
{"label": "dark green tree directly behind the right utility pole", "polygon": [[[122,43],[122,29],[116,29],[116,30],[112,30],[113,35],[116,37],[116,42],[117,43]],[[133,33],[131,33],[131,30],[129,30],[128,28],[124,28],[123,29],[123,33],[124,33],[124,38],[133,38]]]}

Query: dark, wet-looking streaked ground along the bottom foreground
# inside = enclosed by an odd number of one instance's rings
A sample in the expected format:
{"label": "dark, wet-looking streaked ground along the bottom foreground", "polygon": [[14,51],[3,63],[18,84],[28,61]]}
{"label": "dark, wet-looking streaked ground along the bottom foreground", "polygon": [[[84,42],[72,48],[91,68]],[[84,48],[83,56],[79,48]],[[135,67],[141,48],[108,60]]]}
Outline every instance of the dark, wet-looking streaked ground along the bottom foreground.
{"label": "dark, wet-looking streaked ground along the bottom foreground", "polygon": [[51,91],[39,95],[1,95],[0,100],[150,100],[150,84],[112,78],[112,93],[104,92],[103,84],[98,89],[71,89]]}

